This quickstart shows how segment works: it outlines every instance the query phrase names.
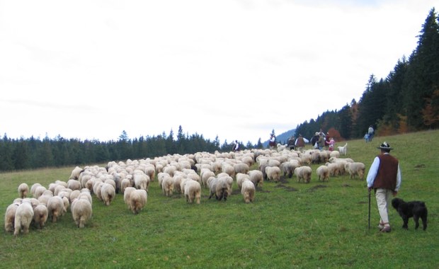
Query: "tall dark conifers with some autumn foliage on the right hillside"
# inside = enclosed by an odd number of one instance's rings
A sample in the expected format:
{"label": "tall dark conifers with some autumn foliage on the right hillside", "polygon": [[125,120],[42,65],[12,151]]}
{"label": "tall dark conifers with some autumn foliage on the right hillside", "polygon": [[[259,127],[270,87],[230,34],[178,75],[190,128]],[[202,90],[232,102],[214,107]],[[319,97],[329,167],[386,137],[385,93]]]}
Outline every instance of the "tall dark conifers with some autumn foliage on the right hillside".
{"label": "tall dark conifers with some autumn foliage on the right hillside", "polygon": [[399,59],[385,79],[373,74],[358,103],[326,111],[296,127],[296,135],[312,137],[320,129],[336,139],[363,137],[372,125],[378,135],[394,135],[439,127],[439,27],[435,8],[428,13],[409,59]]}

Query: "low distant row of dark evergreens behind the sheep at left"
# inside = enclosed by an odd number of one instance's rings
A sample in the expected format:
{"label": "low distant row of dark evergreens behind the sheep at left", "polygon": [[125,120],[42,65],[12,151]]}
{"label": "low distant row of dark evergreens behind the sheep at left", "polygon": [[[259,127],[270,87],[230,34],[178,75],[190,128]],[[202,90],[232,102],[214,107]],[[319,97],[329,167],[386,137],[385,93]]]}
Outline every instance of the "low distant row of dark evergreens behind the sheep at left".
{"label": "low distant row of dark evergreens behind the sheep at left", "polygon": [[[178,128],[177,137],[173,131],[166,135],[139,137],[130,139],[125,131],[118,141],[100,142],[98,140],[64,139],[11,139],[5,134],[0,139],[0,171],[13,171],[42,167],[76,166],[84,164],[101,164],[107,161],[126,161],[127,159],[144,159],[164,156],[166,154],[187,154],[198,151],[213,153],[231,151],[233,143],[225,141],[220,145],[218,137],[214,141],[203,135],[183,134]],[[240,143],[241,149],[262,148],[258,144]]]}

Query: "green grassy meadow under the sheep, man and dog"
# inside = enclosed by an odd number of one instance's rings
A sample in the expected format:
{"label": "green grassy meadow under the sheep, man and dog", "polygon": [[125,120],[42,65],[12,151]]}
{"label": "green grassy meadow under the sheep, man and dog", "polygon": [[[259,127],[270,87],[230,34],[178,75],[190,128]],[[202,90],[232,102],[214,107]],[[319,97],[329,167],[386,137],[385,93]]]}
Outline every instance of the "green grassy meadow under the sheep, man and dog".
{"label": "green grassy meadow under the sheep, man and dog", "polygon": [[[415,231],[413,219],[409,230],[401,229],[392,209],[392,232],[380,233],[373,196],[367,229],[365,180],[348,176],[327,183],[315,173],[308,184],[266,181],[251,204],[234,185],[227,202],[208,200],[203,189],[200,205],[188,205],[180,195],[165,197],[154,181],[137,215],[122,195],[108,207],[93,196],[93,217],[84,229],[67,212],[29,234],[3,230],[0,268],[439,268],[439,131],[348,141],[347,156],[363,162],[367,173],[384,141],[400,160],[398,197],[426,202],[426,231]],[[0,173],[0,214],[18,197],[20,183],[47,187],[67,181],[73,168]]]}

